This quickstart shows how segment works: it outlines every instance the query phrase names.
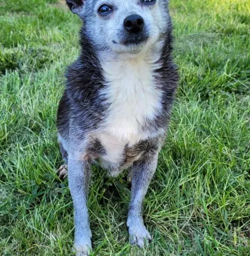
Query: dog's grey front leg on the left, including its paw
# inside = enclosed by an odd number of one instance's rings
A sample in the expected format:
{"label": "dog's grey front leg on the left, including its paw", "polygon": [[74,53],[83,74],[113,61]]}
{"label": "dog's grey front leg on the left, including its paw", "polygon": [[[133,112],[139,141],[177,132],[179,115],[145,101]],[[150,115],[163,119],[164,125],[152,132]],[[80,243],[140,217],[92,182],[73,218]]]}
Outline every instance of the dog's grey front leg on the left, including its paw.
{"label": "dog's grey front leg on the left, including its paw", "polygon": [[89,255],[92,250],[87,208],[91,171],[90,163],[79,160],[76,155],[68,156],[68,182],[74,204],[74,250],[77,256],[83,256]]}

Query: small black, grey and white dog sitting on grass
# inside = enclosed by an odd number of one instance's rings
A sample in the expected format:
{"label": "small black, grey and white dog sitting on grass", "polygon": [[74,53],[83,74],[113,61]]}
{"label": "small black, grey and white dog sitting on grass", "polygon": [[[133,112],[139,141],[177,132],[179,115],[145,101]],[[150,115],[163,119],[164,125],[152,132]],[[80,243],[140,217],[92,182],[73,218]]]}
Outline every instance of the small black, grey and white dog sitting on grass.
{"label": "small black, grey and white dog sitting on grass", "polygon": [[156,171],[178,69],[172,60],[168,0],[66,0],[82,20],[80,56],[66,72],[57,128],[74,205],[74,250],[92,251],[87,200],[90,167],[116,177],[130,169],[130,243],[152,239],[142,203]]}

